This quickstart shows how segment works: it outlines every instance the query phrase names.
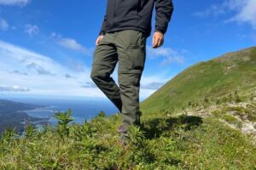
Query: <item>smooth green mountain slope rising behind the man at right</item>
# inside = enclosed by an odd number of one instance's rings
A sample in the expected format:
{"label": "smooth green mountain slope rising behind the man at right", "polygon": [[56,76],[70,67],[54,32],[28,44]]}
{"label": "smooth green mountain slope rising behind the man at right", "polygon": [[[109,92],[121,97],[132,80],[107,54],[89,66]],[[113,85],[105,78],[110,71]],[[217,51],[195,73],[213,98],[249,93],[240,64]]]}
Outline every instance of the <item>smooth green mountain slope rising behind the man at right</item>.
{"label": "smooth green mountain slope rising behind the man at right", "polygon": [[141,110],[180,109],[191,102],[216,99],[234,91],[256,92],[256,47],[189,67],[144,100]]}

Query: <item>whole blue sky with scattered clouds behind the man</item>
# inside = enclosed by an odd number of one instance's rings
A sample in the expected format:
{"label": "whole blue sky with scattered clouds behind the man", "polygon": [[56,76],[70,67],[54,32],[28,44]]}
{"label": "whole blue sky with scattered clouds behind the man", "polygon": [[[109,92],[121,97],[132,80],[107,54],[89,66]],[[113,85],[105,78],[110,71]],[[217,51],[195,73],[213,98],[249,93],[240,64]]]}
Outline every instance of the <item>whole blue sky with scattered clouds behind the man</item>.
{"label": "whole blue sky with scattered clouds behind the man", "polygon": [[[106,98],[90,80],[106,3],[0,0],[0,95]],[[256,0],[173,3],[164,45],[148,37],[141,99],[189,65],[256,42]]]}

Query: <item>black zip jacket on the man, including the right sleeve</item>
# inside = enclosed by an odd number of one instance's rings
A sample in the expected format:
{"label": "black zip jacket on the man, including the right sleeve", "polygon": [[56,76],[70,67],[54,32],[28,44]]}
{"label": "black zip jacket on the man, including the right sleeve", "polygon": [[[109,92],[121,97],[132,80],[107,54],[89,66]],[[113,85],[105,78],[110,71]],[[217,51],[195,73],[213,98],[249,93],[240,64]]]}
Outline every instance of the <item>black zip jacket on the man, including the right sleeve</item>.
{"label": "black zip jacket on the man, including the right sleeve", "polygon": [[100,35],[120,30],[151,32],[151,19],[155,3],[155,31],[166,33],[172,17],[172,0],[108,0],[107,11]]}

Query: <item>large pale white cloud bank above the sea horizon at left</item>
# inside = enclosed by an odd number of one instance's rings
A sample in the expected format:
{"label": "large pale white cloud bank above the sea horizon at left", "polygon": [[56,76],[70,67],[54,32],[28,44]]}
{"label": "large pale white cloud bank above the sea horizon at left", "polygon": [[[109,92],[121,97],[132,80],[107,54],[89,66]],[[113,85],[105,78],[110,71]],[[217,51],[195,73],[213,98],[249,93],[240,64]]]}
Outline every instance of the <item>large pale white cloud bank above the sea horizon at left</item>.
{"label": "large pale white cloud bank above the sea horizon at left", "polygon": [[49,56],[1,40],[0,68],[0,94],[105,97],[98,88],[82,87],[83,82],[92,83],[85,66],[83,72],[70,70]]}

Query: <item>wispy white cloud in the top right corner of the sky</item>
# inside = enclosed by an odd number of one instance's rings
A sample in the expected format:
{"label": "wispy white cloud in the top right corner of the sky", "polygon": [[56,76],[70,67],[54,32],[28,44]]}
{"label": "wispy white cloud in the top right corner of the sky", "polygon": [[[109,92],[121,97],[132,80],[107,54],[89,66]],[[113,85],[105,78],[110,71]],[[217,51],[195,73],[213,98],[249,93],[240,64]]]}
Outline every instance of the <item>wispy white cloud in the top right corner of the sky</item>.
{"label": "wispy white cloud in the top right corner of the sky", "polygon": [[199,17],[217,17],[224,14],[232,15],[225,20],[226,22],[248,23],[253,26],[253,29],[256,29],[255,0],[225,0],[223,3],[213,4],[206,10],[195,13]]}

